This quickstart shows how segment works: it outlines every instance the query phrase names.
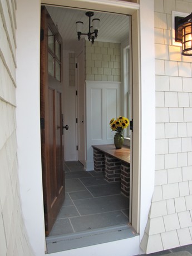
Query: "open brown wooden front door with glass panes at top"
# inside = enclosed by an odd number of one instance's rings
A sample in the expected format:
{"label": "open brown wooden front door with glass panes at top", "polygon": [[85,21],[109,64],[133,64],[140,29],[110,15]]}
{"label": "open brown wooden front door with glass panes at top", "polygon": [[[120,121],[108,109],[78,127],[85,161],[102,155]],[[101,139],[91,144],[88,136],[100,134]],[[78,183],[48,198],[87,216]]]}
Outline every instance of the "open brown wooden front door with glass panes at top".
{"label": "open brown wooden front door with glass panes at top", "polygon": [[41,153],[45,229],[48,235],[65,199],[62,148],[62,38],[41,9]]}

